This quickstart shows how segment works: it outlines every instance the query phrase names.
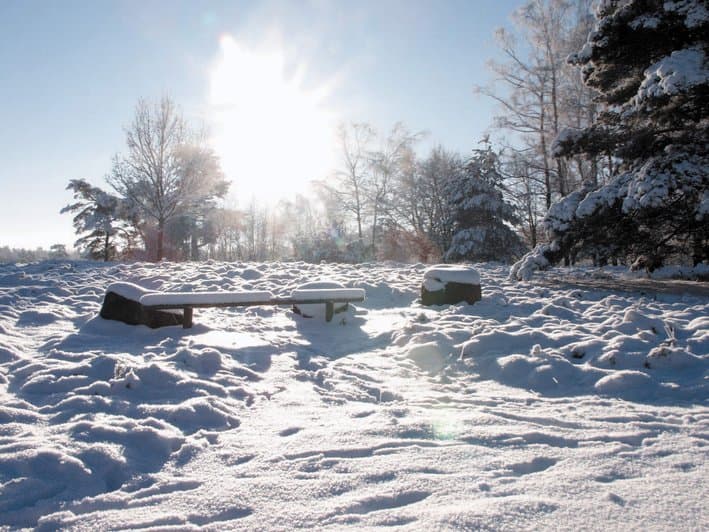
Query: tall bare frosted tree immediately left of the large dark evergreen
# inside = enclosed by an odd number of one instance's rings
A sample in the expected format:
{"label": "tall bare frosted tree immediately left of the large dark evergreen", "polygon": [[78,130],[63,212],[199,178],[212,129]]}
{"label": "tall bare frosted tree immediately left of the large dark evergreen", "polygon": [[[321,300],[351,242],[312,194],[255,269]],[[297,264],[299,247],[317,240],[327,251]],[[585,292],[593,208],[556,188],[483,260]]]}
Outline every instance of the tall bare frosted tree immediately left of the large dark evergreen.
{"label": "tall bare frosted tree immediately left of the large dark evergreen", "polygon": [[585,127],[593,119],[593,90],[581,82],[566,57],[585,40],[591,0],[529,0],[513,15],[516,31],[497,30],[502,61],[482,94],[500,104],[498,130],[508,135],[505,175],[520,209],[531,245],[543,235],[538,220],[552,203],[586,179],[596,179],[595,160],[553,157],[553,140],[567,126]]}

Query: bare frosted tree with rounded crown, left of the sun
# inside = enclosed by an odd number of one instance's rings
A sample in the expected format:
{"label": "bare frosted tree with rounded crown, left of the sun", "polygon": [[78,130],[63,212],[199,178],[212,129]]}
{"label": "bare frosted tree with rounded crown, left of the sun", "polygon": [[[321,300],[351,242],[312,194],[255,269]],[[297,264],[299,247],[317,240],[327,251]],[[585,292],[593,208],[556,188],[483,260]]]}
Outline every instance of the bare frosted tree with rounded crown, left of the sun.
{"label": "bare frosted tree with rounded crown, left of the sun", "polygon": [[108,182],[143,225],[155,227],[155,259],[161,260],[167,224],[191,217],[198,225],[229,184],[203,135],[189,127],[167,97],[155,105],[138,102],[126,144],[128,153],[114,158]]}

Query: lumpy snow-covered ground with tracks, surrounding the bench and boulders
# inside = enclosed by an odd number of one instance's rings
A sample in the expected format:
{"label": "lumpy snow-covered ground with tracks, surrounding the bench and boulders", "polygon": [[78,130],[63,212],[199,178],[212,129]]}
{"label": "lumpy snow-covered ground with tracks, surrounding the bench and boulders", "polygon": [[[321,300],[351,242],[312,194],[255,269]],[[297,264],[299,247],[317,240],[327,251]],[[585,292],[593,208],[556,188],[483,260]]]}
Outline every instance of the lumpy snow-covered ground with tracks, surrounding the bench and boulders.
{"label": "lumpy snow-covered ground with tracks, surrounding the bench and boulders", "polygon": [[[0,525],[706,530],[709,298],[424,265],[0,266]],[[364,288],[331,323],[97,317],[106,287]],[[462,355],[462,356],[461,356]]]}

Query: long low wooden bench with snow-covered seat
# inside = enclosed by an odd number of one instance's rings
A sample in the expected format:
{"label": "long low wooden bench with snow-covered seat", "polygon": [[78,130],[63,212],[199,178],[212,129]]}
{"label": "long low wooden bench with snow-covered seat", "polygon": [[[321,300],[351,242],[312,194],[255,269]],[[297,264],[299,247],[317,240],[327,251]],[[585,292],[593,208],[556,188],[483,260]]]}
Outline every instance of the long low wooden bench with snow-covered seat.
{"label": "long low wooden bench with snow-covered seat", "polygon": [[325,319],[332,321],[336,303],[364,301],[362,288],[300,289],[290,297],[275,297],[271,292],[151,292],[140,297],[140,304],[147,309],[182,309],[182,327],[192,327],[195,308],[205,307],[250,307],[258,305],[307,305],[324,304]]}

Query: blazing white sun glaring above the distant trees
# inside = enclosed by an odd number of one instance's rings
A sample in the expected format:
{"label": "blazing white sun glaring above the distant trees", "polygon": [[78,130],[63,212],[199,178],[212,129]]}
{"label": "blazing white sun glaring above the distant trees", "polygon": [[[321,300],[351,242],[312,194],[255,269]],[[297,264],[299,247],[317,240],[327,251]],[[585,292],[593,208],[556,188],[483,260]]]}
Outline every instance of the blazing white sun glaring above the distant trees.
{"label": "blazing white sun glaring above the distant trees", "polygon": [[239,203],[273,204],[305,193],[332,171],[336,119],[327,85],[305,88],[305,67],[288,75],[282,50],[220,39],[210,74],[214,144]]}

